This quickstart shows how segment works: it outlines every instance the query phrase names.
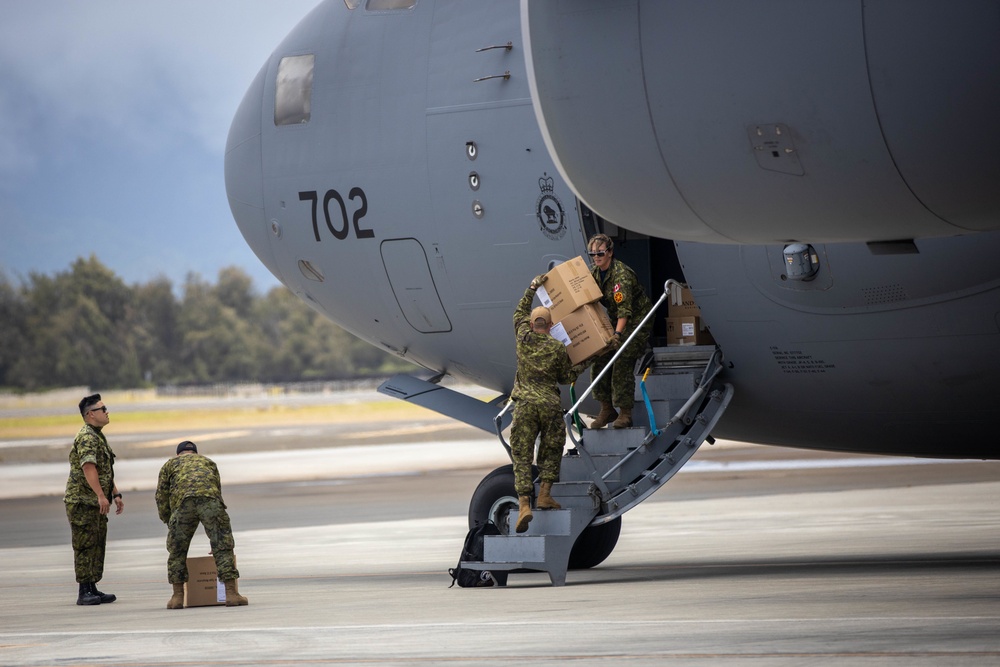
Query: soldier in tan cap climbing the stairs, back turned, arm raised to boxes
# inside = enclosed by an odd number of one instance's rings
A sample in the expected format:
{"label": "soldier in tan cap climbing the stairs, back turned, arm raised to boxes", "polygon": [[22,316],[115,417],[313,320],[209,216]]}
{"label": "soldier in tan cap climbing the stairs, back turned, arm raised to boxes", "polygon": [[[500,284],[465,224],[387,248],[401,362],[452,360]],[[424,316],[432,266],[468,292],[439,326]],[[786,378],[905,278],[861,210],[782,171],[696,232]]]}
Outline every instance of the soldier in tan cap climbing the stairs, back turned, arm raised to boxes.
{"label": "soldier in tan cap climbing the stairs, back turned, arm raised to boxes", "polygon": [[510,430],[510,446],[514,458],[514,489],[518,495],[519,512],[515,531],[523,533],[531,521],[531,493],[534,481],[531,461],[535,439],[538,445],[538,476],[541,490],[537,509],[559,509],[551,495],[552,484],[559,481],[562,450],[566,444],[559,385],[576,380],[583,367],[573,366],[565,346],[549,335],[552,317],[548,308],[539,306],[531,311],[535,290],[545,281],[538,276],[524,292],[514,311],[514,334],[517,339],[517,374],[510,397],[514,401],[514,421]]}

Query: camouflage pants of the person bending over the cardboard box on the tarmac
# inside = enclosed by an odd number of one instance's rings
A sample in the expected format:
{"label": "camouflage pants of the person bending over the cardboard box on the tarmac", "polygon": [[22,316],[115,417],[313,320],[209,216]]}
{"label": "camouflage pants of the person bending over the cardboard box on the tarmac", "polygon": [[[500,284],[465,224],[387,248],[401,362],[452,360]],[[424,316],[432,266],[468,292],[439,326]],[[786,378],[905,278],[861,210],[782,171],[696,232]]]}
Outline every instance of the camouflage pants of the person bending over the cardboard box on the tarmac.
{"label": "camouflage pants of the person bending over the cardboard box on the tarmac", "polygon": [[187,581],[187,551],[198,524],[205,526],[205,533],[212,545],[215,567],[219,579],[239,579],[236,557],[233,555],[233,528],[221,498],[185,498],[174,510],[167,523],[167,581],[183,584]]}

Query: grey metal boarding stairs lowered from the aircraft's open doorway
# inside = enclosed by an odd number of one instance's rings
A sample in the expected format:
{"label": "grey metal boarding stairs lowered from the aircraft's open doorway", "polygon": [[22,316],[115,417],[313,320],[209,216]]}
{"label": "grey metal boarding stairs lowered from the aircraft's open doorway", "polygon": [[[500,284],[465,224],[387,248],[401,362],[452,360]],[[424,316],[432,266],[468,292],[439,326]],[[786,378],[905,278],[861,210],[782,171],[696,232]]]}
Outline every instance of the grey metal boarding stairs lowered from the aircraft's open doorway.
{"label": "grey metal boarding stairs lowered from the aircraft's open doorway", "polygon": [[[672,282],[647,317],[664,302]],[[605,370],[610,369],[608,364]],[[721,370],[721,353],[714,345],[648,351],[636,364],[631,428],[581,428],[574,416],[585,393],[566,415],[572,447],[563,456],[560,481],[552,486],[552,497],[562,509],[533,510],[524,533],[514,532],[512,511],[509,526],[501,527],[506,534],[485,537],[483,561],[462,562],[462,567],[546,572],[552,585],[564,585],[570,553],[584,530],[636,507],[673,477],[703,442],[712,442],[712,428],[733,394],[731,385],[717,379]],[[501,442],[502,416],[503,411],[497,416]],[[537,481],[535,491],[537,497]]]}

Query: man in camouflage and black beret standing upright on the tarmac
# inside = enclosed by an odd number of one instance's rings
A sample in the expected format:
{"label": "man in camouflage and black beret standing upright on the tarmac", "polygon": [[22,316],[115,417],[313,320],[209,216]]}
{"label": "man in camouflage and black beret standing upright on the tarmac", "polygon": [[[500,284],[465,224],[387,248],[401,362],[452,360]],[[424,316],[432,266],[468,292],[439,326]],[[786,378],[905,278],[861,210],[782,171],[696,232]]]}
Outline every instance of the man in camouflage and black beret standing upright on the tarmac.
{"label": "man in camouflage and black beret standing upright on the tarmac", "polygon": [[[97,590],[104,576],[104,553],[108,541],[108,514],[111,502],[115,514],[125,510],[125,501],[115,485],[115,453],[101,430],[111,417],[100,394],[80,401],[84,424],[73,440],[66,480],[66,517],[73,540],[73,566],[79,593],[76,603],[94,605],[114,602],[110,593]],[[109,500],[110,499],[110,500]]]}

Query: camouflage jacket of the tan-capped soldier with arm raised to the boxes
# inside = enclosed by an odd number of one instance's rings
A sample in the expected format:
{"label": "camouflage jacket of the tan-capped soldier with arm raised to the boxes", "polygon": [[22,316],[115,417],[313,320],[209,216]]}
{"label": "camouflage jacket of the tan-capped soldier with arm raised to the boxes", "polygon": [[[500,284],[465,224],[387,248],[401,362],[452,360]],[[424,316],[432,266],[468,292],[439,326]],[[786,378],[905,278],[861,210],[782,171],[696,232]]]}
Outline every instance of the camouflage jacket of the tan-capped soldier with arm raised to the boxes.
{"label": "camouflage jacket of the tan-capped soldier with arm raised to the boxes", "polygon": [[561,408],[559,385],[571,384],[582,367],[570,364],[566,347],[548,334],[531,330],[531,301],[535,290],[528,288],[514,311],[517,339],[517,374],[510,397],[531,401],[539,407]]}

